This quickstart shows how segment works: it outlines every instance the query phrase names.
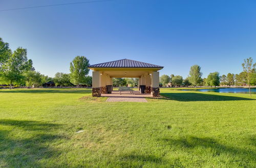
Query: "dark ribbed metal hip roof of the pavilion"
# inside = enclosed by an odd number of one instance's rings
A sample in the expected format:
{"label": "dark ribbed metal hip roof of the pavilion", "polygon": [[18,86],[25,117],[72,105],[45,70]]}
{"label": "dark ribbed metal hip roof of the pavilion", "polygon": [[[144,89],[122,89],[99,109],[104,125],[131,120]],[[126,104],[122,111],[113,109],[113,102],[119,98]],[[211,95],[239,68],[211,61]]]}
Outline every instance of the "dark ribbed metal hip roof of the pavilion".
{"label": "dark ribbed metal hip roof of the pavilion", "polygon": [[163,68],[159,65],[143,63],[140,61],[134,61],[129,59],[122,59],[117,61],[111,61],[106,63],[94,64],[88,67],[101,67],[101,68]]}

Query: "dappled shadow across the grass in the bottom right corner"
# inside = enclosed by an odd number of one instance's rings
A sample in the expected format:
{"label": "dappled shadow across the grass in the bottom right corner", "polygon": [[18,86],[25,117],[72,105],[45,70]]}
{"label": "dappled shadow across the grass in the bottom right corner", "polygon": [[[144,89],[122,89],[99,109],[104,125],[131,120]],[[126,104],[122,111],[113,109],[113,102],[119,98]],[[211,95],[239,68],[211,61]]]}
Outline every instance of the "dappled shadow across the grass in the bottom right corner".
{"label": "dappled shadow across the grass in the bottom right corner", "polygon": [[[248,166],[248,164],[253,164],[256,159],[256,151],[250,149],[241,149],[237,147],[225,146],[218,143],[215,139],[209,137],[195,137],[189,136],[187,138],[172,139],[163,138],[160,139],[161,142],[167,143],[169,146],[176,147],[179,150],[184,150],[188,153],[194,150],[201,155],[211,155],[211,157],[217,157],[219,155],[225,154],[226,156],[236,157],[234,158],[240,166]],[[201,151],[198,152],[201,147]]]}

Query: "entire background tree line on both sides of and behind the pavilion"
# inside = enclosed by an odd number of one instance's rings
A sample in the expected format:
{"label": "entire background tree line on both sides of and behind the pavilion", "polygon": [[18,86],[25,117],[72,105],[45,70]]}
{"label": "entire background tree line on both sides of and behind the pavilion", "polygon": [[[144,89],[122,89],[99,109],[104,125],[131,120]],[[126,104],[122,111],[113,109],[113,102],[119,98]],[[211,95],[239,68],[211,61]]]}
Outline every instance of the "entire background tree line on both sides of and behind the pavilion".
{"label": "entire background tree line on both sides of and behind the pavilion", "polygon": [[[8,85],[10,89],[15,86],[40,87],[43,83],[54,81],[56,86],[92,86],[92,77],[89,73],[89,60],[77,56],[70,63],[70,73],[57,72],[49,77],[36,71],[31,59],[27,58],[27,49],[18,47],[12,51],[9,44],[0,38],[0,85]],[[220,76],[219,72],[209,73],[207,78],[202,78],[201,67],[190,67],[189,75],[183,79],[180,75],[162,75],[160,82],[163,86],[255,86],[256,63],[252,58],[244,60],[243,72],[239,74],[228,73]],[[113,86],[138,86],[138,78],[113,78]]]}

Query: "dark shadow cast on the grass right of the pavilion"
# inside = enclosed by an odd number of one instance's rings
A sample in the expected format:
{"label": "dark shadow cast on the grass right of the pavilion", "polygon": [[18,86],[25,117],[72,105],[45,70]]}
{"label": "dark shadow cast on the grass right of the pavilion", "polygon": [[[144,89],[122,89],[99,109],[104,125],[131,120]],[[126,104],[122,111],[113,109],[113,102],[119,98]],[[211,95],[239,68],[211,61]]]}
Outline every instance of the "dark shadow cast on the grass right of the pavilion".
{"label": "dark shadow cast on the grass right of the pavilion", "polygon": [[177,101],[232,101],[232,100],[255,100],[243,97],[211,95],[203,93],[161,93],[164,100],[177,100]]}

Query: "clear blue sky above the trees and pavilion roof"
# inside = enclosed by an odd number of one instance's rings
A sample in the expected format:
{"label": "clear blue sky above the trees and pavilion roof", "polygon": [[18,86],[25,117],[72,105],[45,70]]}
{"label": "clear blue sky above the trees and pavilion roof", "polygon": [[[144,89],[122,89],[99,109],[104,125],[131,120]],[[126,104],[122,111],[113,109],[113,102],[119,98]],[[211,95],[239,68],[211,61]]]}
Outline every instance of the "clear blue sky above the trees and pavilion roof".
{"label": "clear blue sky above the trees and pavilion roof", "polygon": [[[0,1],[0,10],[83,0]],[[90,0],[88,0],[90,1]],[[69,73],[76,55],[90,64],[132,59],[187,77],[190,66],[239,73],[256,61],[256,1],[116,0],[0,12],[0,37],[28,49],[42,74]],[[90,72],[91,73],[91,72]]]}

